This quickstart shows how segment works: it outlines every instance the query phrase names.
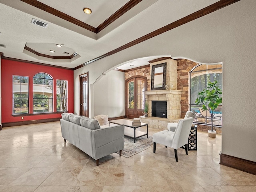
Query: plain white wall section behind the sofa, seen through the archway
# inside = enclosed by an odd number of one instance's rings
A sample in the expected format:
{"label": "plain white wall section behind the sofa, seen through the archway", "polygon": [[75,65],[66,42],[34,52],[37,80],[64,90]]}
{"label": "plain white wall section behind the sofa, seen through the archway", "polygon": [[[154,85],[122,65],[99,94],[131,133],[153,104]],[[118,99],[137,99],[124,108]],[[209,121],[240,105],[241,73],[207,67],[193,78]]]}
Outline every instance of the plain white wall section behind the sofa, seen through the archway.
{"label": "plain white wall section behind the sofa, seen through the archway", "polygon": [[94,116],[124,116],[124,72],[112,70],[94,83]]}

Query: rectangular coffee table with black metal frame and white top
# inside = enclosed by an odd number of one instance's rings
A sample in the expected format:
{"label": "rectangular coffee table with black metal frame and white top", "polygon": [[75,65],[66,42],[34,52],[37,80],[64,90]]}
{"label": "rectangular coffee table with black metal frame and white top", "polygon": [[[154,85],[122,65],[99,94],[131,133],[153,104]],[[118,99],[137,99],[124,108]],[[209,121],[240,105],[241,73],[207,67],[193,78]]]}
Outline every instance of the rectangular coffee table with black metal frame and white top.
{"label": "rectangular coffee table with black metal frame and white top", "polygon": [[[142,137],[144,135],[146,135],[148,138],[148,124],[147,123],[141,123],[141,125],[133,125],[132,120],[127,120],[127,119],[117,119],[117,120],[109,121],[109,126],[111,123],[118,124],[118,125],[124,125],[124,135],[134,138],[134,143],[136,142],[136,138]],[[136,128],[143,127],[143,126],[147,126],[147,132],[136,131]]]}

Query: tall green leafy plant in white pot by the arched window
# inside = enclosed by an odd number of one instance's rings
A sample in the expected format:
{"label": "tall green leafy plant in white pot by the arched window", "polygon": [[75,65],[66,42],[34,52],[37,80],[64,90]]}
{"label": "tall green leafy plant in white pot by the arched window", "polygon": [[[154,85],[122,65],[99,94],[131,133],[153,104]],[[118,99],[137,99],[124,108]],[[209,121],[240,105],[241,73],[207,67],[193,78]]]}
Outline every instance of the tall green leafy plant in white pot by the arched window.
{"label": "tall green leafy plant in white pot by the arched window", "polygon": [[196,105],[202,105],[202,110],[208,110],[212,121],[212,129],[208,130],[209,137],[216,137],[216,131],[213,130],[214,110],[222,103],[222,90],[217,85],[218,81],[208,82],[206,88],[197,94]]}

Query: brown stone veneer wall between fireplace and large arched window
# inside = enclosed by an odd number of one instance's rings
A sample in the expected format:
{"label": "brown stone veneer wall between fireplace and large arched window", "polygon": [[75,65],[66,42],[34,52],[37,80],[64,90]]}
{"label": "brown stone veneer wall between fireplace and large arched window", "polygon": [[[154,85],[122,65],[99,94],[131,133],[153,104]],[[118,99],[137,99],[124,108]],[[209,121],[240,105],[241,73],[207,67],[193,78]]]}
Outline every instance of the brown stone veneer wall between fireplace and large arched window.
{"label": "brown stone veneer wall between fireplace and large arched window", "polygon": [[189,109],[189,71],[198,63],[187,59],[177,60],[177,90],[182,90],[180,99],[180,117],[184,118]]}

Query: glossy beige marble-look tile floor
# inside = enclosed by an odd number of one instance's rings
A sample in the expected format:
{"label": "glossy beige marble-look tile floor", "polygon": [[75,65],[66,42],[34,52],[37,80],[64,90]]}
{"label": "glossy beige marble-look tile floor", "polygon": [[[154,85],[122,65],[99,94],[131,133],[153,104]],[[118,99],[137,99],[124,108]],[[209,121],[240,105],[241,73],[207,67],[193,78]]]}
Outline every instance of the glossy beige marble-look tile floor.
{"label": "glossy beige marble-look tile floor", "polygon": [[[158,130],[149,130],[152,135]],[[64,143],[60,122],[0,131],[0,192],[255,192],[256,176],[219,164],[221,135],[198,132],[197,151],[157,144],[95,160]]]}

